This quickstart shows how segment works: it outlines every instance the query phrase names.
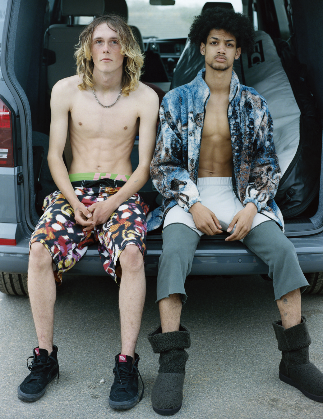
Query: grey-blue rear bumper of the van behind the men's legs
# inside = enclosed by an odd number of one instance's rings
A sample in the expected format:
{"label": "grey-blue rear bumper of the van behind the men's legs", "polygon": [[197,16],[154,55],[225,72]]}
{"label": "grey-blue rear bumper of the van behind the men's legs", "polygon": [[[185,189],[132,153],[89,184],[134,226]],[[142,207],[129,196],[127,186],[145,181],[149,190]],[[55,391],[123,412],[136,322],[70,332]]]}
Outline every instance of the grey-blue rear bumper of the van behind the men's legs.
{"label": "grey-blue rear bumper of the van behind the men's legs", "polygon": [[[294,244],[303,272],[323,271],[323,234],[290,239]],[[26,273],[29,240],[22,238],[17,246],[0,246],[0,271]],[[147,238],[146,275],[158,272],[161,239]],[[66,274],[106,275],[96,248],[89,248],[83,258]],[[268,274],[268,266],[240,242],[203,240],[198,246],[190,275]]]}

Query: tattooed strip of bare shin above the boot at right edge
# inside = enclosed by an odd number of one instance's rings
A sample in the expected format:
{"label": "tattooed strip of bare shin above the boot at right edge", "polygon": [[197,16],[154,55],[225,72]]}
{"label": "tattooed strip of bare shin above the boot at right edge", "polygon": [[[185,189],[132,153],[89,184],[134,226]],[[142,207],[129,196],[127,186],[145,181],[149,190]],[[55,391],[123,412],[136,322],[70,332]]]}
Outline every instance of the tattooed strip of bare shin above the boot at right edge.
{"label": "tattooed strip of bare shin above the boot at right edge", "polygon": [[296,326],[301,322],[301,293],[300,289],[291,291],[283,295],[280,300],[276,300],[281,324],[285,329]]}

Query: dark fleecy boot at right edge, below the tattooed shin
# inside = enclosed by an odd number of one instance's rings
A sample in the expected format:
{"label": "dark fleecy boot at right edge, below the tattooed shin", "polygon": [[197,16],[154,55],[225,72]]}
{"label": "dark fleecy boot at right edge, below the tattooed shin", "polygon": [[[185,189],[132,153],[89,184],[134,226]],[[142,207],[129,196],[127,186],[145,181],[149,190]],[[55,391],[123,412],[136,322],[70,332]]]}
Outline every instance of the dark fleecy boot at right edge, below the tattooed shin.
{"label": "dark fleecy boot at right edge, below the tattooed shin", "polygon": [[311,343],[306,318],[300,324],[285,329],[281,321],[273,322],[281,351],[279,378],[298,388],[306,397],[323,402],[323,374],[310,362],[308,346]]}

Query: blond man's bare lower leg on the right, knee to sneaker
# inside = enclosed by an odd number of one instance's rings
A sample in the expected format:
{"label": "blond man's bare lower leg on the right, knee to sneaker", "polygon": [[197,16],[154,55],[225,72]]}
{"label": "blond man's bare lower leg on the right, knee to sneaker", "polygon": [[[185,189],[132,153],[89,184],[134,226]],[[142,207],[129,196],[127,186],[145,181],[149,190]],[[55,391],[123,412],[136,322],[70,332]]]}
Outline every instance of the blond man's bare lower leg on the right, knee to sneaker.
{"label": "blond man's bare lower leg on the right, knee to sneaker", "polygon": [[133,357],[146,296],[143,256],[136,245],[126,246],[119,257],[122,277],[119,291],[121,353]]}

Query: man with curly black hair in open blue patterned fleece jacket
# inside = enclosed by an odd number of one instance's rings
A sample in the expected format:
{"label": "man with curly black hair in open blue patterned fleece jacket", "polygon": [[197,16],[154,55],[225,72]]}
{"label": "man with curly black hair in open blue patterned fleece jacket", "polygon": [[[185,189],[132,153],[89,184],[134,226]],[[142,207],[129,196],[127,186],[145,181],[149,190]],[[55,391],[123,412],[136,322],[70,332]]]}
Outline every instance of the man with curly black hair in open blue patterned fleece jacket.
{"label": "man with curly black hair in open blue patterned fleece jacket", "polygon": [[[167,93],[151,177],[164,196],[148,217],[148,230],[161,225],[157,302],[161,327],[148,336],[160,353],[152,404],[174,414],[182,404],[190,334],[180,325],[184,282],[203,234],[230,233],[269,265],[281,321],[274,330],[282,351],[281,380],[323,401],[323,374],[308,361],[310,337],[301,317],[300,293],[308,285],[274,196],[281,176],[267,104],[232,71],[241,50],[253,47],[246,16],[209,9],[197,16],[191,42],[201,48],[206,69]],[[216,272],[214,272],[216,273]],[[315,379],[314,379],[315,377]]]}

